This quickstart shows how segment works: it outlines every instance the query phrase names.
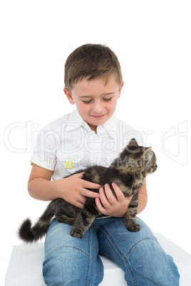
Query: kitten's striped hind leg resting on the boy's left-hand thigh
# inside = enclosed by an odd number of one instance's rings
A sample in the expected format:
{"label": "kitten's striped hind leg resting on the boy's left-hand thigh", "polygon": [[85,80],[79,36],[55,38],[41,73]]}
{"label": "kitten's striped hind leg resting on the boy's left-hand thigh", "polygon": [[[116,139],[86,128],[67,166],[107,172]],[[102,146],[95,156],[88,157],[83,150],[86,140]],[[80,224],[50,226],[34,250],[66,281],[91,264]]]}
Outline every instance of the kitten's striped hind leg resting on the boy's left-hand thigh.
{"label": "kitten's striped hind leg resting on the boy's left-hand thigh", "polygon": [[76,218],[71,235],[74,238],[83,238],[84,233],[91,226],[95,218],[99,216],[98,208],[95,204],[95,198],[87,198],[81,212]]}

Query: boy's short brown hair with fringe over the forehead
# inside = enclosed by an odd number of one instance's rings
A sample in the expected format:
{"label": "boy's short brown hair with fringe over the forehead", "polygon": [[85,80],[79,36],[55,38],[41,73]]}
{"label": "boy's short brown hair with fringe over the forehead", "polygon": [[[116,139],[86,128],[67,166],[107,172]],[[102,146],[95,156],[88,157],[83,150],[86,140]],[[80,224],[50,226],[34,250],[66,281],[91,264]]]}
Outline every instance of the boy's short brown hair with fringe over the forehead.
{"label": "boy's short brown hair with fringe over the forehead", "polygon": [[65,64],[65,88],[71,90],[77,80],[87,78],[105,78],[107,83],[110,75],[115,75],[117,83],[121,84],[122,74],[117,56],[107,46],[91,44],[76,48],[67,58]]}

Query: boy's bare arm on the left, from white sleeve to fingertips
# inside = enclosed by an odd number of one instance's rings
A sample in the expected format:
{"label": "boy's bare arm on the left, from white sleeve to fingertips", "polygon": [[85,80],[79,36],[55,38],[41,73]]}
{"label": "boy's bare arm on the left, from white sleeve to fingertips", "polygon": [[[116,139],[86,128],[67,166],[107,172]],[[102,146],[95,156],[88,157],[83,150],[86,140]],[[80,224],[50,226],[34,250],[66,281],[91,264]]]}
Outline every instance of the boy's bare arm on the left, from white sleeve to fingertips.
{"label": "boy's bare arm on the left, from white sleeve to fingertips", "polygon": [[56,181],[51,181],[52,174],[53,171],[33,164],[28,184],[30,196],[42,201],[63,198],[78,208],[83,208],[87,196],[90,198],[99,197],[99,194],[88,189],[98,189],[100,185],[81,179],[83,173]]}

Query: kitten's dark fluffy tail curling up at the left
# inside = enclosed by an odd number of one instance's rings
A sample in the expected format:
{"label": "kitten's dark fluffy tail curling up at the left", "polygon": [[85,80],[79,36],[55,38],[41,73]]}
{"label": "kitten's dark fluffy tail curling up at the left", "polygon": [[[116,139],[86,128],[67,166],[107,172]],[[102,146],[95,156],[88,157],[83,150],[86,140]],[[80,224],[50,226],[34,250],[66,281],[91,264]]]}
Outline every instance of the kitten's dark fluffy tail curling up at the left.
{"label": "kitten's dark fluffy tail curling up at the left", "polygon": [[51,218],[54,215],[53,209],[50,208],[51,203],[49,203],[46,211],[43,215],[38,218],[38,221],[34,226],[31,227],[32,223],[29,218],[27,218],[19,228],[19,238],[24,240],[26,243],[36,242],[38,239],[43,238],[48,231],[48,226],[51,223]]}

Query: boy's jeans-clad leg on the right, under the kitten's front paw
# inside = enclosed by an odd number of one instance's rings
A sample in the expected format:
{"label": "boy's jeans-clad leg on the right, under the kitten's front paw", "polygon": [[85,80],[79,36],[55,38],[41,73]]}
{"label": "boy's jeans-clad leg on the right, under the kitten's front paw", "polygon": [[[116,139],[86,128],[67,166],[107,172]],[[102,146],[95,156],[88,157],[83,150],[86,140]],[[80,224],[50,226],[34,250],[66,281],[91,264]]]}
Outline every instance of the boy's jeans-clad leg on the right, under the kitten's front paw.
{"label": "boy's jeans-clad leg on the right, under the kitten's front paw", "polygon": [[171,256],[165,254],[150,228],[136,220],[141,230],[130,233],[123,218],[97,219],[100,254],[118,263],[129,286],[179,285],[180,275]]}

